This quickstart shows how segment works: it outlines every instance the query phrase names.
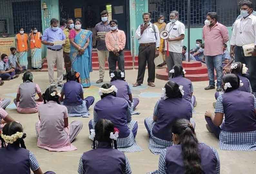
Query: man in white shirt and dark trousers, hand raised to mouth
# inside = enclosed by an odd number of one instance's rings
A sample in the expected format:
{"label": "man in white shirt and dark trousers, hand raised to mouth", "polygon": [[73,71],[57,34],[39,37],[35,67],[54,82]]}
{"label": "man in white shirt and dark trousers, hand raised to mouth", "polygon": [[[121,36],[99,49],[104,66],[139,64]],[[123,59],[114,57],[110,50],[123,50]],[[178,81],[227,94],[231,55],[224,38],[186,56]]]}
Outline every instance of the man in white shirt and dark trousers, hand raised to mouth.
{"label": "man in white shirt and dark trousers, hand raised to mouth", "polygon": [[133,87],[143,83],[146,64],[148,65],[148,85],[154,87],[155,81],[155,57],[159,56],[160,35],[156,25],[151,22],[151,14],[143,13],[143,24],[136,30],[136,38],[139,40],[139,70],[136,83]]}

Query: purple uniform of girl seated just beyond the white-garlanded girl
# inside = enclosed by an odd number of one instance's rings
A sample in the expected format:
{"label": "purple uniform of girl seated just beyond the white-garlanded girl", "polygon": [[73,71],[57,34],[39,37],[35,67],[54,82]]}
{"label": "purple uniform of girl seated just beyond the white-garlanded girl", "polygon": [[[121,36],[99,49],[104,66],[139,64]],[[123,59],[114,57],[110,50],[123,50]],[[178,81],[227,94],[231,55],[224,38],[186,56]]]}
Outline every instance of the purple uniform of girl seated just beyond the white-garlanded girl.
{"label": "purple uniform of girl seated just beyond the white-garlanded girl", "polygon": [[130,107],[133,109],[132,111],[134,111],[140,100],[138,98],[133,98],[133,102],[130,101],[129,94],[132,94],[132,89],[129,83],[123,80],[114,80],[110,84],[115,85],[115,87],[118,89],[116,97],[120,97],[128,101]]}

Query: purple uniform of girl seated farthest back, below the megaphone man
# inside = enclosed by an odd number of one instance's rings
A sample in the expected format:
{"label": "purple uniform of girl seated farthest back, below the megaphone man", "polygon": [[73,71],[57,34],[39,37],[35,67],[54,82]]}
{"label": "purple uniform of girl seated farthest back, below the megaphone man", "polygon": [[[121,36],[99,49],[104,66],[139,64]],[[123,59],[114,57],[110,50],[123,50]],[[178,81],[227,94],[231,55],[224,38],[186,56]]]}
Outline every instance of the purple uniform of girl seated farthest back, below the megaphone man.
{"label": "purple uniform of girl seated farthest back, below the megaphone man", "polygon": [[184,90],[184,96],[183,99],[188,100],[189,102],[192,103],[193,106],[195,106],[196,98],[195,96],[191,96],[191,93],[194,92],[193,84],[192,82],[183,77],[183,76],[177,76],[174,78],[169,78],[170,81],[177,83],[178,85],[183,86]]}

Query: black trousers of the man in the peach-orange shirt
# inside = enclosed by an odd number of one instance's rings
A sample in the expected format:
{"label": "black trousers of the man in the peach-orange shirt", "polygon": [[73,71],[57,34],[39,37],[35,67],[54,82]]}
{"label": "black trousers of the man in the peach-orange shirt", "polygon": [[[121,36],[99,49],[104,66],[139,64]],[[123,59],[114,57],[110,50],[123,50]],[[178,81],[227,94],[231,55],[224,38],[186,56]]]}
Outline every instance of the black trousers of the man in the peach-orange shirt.
{"label": "black trousers of the man in the peach-orange shirt", "polygon": [[116,62],[118,64],[118,69],[121,70],[124,74],[124,51],[119,51],[119,56],[115,56],[115,54],[110,51],[108,57],[108,68],[109,68],[109,76],[116,69]]}

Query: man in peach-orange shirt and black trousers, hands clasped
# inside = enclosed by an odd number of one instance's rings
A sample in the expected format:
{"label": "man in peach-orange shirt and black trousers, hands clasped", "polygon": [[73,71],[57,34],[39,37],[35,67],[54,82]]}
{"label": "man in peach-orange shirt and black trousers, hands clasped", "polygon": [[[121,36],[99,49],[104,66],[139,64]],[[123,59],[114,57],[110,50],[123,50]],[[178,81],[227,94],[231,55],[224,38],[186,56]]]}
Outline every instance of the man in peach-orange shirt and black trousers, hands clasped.
{"label": "man in peach-orange shirt and black trousers, hands clasped", "polygon": [[110,29],[106,33],[106,47],[109,50],[108,67],[109,75],[116,69],[116,61],[118,63],[118,69],[124,73],[124,47],[126,42],[126,36],[124,31],[118,30],[117,20],[110,21]]}

